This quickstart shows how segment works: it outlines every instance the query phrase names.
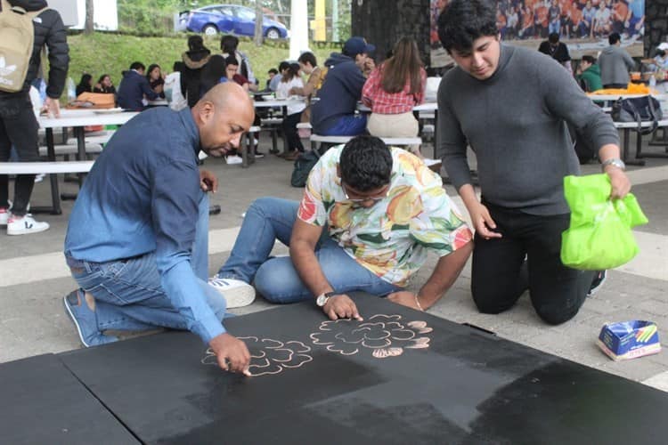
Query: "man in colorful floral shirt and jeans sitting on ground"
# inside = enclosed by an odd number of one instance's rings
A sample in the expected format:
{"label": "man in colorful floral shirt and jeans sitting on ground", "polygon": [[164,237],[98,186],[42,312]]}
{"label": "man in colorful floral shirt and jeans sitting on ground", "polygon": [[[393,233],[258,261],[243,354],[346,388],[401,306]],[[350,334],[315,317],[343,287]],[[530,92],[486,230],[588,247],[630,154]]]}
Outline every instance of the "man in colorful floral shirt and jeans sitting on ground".
{"label": "man in colorful floral shirt and jeans sitting on ground", "polygon": [[[289,257],[269,258],[276,239]],[[257,199],[209,283],[225,292],[254,281],[272,303],[315,299],[332,320],[361,319],[346,295],[354,291],[426,310],[459,276],[471,239],[440,176],[405,150],[358,136],[322,155],[301,203]],[[428,250],[440,256],[436,270],[417,294],[404,290]]]}

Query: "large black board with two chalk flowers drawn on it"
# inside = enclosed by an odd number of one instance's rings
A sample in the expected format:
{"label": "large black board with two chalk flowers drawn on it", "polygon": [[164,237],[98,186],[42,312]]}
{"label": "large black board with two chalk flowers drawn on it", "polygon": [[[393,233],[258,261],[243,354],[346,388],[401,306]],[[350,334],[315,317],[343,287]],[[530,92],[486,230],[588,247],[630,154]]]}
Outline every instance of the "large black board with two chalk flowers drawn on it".
{"label": "large black board with two chalk flowers drawn on it", "polygon": [[277,374],[248,378],[203,364],[206,346],[175,332],[61,359],[149,443],[659,443],[668,437],[665,392],[370,295],[355,300],[363,323],[331,326],[311,302],[226,320],[235,336],[280,341],[293,352],[247,342],[270,365],[251,370]]}

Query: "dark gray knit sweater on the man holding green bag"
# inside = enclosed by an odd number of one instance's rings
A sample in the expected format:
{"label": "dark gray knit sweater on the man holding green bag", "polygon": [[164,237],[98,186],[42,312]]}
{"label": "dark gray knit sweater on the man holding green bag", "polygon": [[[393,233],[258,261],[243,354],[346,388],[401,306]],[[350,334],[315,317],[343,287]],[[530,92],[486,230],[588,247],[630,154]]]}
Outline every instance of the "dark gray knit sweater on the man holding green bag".
{"label": "dark gray knit sweater on the man holding green bag", "polygon": [[501,44],[485,80],[451,69],[438,90],[438,149],[457,190],[471,183],[467,144],[476,152],[486,201],[528,214],[565,214],[563,178],[580,168],[566,122],[600,148],[619,144],[608,117],[564,67],[545,54]]}

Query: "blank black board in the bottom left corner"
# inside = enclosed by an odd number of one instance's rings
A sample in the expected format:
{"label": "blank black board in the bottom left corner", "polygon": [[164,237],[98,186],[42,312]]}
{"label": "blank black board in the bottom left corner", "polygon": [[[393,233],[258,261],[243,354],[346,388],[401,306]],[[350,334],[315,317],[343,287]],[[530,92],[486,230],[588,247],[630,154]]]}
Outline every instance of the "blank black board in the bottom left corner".
{"label": "blank black board in the bottom left corner", "polygon": [[53,354],[0,365],[0,443],[139,443]]}

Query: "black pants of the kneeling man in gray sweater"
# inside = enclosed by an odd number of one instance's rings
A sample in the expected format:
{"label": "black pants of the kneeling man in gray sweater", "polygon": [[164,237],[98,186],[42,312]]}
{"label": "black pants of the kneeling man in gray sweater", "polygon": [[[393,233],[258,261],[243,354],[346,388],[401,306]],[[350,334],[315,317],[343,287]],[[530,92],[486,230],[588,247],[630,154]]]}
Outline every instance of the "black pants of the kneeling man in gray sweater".
{"label": "black pants of the kneeling man in gray sweater", "polygon": [[[501,239],[476,234],[471,293],[480,312],[510,309],[528,288],[538,315],[551,325],[580,310],[594,278],[561,263],[561,232],[570,214],[535,215],[485,203]],[[526,256],[526,263],[525,263]]]}

